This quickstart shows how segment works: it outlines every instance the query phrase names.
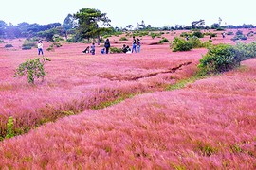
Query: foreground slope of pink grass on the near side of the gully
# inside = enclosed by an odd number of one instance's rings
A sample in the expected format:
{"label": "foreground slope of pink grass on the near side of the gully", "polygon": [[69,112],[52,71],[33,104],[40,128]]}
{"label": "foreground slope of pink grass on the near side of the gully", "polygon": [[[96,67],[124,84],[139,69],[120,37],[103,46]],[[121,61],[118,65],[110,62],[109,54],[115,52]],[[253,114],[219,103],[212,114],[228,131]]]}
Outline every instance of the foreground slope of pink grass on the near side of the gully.
{"label": "foreground slope of pink grass on the near side of the gully", "polygon": [[137,95],[0,143],[1,168],[256,167],[256,59],[182,90]]}

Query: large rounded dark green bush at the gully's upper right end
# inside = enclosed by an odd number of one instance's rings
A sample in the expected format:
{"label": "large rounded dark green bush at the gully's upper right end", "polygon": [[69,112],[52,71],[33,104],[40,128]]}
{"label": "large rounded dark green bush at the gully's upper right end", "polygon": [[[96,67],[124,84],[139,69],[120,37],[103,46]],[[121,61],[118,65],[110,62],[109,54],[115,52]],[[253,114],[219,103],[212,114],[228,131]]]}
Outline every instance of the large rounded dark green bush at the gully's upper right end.
{"label": "large rounded dark green bush at the gully's upper right end", "polygon": [[230,44],[211,46],[198,65],[201,74],[217,74],[229,71],[240,65],[241,59]]}

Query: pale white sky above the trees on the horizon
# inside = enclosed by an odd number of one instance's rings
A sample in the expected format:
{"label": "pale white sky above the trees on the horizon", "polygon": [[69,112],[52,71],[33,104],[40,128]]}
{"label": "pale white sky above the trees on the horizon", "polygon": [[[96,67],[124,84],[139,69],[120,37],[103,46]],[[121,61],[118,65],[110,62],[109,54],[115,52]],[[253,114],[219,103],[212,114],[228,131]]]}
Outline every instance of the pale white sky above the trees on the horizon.
{"label": "pale white sky above the trees on the horizon", "polygon": [[[151,26],[191,26],[204,19],[206,26],[252,24],[256,26],[255,0],[0,0],[0,20],[46,25],[63,23],[68,13],[82,8],[100,9],[112,20],[111,26],[136,26],[144,20]],[[254,17],[253,17],[254,16]]]}

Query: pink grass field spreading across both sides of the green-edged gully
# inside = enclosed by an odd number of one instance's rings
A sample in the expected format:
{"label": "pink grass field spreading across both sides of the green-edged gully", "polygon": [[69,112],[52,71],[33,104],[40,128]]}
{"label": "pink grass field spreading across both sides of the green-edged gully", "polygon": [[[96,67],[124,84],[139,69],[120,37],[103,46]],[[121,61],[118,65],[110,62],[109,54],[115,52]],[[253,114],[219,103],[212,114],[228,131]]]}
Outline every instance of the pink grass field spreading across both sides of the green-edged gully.
{"label": "pink grass field spreading across both sides of the green-edged gully", "polygon": [[[213,42],[231,42],[217,38]],[[120,47],[115,39],[112,44]],[[37,57],[36,49],[22,51],[23,40],[7,42],[14,47],[0,43],[1,130],[9,116],[33,127],[42,113],[54,113],[48,108],[82,113],[0,142],[0,169],[256,168],[256,59],[165,92],[165,85],[192,76],[206,49],[173,53],[168,43],[149,45],[158,40],[145,37],[140,54],[101,55],[97,47],[91,56],[81,53],[82,43],[63,43],[45,50],[52,59],[48,76],[30,86],[12,76],[18,64]],[[129,93],[144,94],[90,110]]]}

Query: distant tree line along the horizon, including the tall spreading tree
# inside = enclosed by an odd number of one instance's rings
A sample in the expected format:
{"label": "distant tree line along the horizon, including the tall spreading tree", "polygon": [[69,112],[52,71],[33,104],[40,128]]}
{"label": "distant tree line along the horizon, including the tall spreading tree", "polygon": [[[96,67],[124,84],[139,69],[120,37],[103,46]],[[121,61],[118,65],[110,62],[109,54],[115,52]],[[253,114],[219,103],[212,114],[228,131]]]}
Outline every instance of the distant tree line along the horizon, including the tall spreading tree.
{"label": "distant tree line along the horizon, including the tall spreading tree", "polygon": [[102,13],[95,8],[82,8],[77,13],[68,14],[61,23],[52,23],[48,25],[28,24],[26,22],[20,23],[17,26],[7,24],[0,20],[0,38],[14,39],[14,38],[32,38],[40,37],[46,41],[53,41],[54,35],[64,36],[66,40],[70,36],[70,42],[82,42],[82,40],[96,39],[101,42],[101,37],[107,34],[114,34],[115,32],[133,31],[133,30],[147,30],[147,31],[165,31],[165,30],[181,30],[181,29],[217,29],[217,28],[254,28],[253,25],[241,26],[221,26],[221,19],[219,23],[214,23],[211,26],[205,26],[204,20],[193,21],[192,26],[163,26],[152,27],[146,25],[144,21],[133,25],[128,25],[124,28],[113,27],[110,25],[111,20],[106,13]]}

